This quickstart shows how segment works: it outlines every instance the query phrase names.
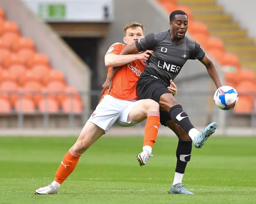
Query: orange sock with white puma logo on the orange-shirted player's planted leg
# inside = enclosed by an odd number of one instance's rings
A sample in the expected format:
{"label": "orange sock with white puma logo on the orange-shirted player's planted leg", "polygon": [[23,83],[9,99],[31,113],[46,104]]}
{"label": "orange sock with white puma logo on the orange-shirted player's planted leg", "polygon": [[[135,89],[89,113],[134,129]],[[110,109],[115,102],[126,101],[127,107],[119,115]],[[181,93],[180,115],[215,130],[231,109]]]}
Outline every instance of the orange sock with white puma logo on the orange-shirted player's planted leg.
{"label": "orange sock with white puma logo on the orange-shirted player's planted leg", "polygon": [[64,180],[72,173],[75,169],[76,164],[80,158],[81,154],[74,151],[73,147],[65,154],[57,172],[55,173],[55,181],[62,184]]}

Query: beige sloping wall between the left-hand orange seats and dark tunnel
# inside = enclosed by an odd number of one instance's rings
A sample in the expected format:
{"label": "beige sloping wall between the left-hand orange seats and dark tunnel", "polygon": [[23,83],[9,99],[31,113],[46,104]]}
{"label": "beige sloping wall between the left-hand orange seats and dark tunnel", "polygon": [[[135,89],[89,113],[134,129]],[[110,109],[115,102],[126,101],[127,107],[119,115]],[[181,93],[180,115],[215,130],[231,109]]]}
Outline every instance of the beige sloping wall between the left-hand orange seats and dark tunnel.
{"label": "beige sloping wall between the left-hand orange seats and dark tunnel", "polygon": [[[79,91],[91,89],[89,67],[66,45],[47,24],[37,18],[20,0],[0,0],[8,20],[16,22],[23,36],[33,39],[37,51],[46,54],[54,69],[62,70],[69,86]],[[83,97],[85,109],[90,107],[88,96]]]}

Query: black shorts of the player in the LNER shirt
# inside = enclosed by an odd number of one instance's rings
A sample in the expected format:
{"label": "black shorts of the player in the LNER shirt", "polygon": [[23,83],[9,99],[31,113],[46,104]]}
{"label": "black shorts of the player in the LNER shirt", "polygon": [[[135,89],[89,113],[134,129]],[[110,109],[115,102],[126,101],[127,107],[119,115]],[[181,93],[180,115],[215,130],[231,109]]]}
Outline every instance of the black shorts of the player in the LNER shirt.
{"label": "black shorts of the player in the LNER shirt", "polygon": [[[137,94],[139,99],[153,99],[154,101],[160,101],[162,94],[170,94],[167,86],[163,84],[159,79],[154,77],[140,77],[137,84]],[[169,113],[160,110],[160,122],[165,125],[167,120],[172,120]]]}

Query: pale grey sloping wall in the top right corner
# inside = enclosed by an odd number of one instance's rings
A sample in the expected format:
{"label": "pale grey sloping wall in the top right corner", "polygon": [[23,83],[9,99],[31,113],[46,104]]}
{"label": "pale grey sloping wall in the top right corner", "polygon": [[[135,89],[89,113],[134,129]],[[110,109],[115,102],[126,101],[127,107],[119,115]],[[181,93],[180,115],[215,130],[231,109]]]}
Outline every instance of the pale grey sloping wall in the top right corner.
{"label": "pale grey sloping wall in the top right corner", "polygon": [[256,42],[256,24],[254,13],[256,8],[255,0],[217,0],[218,4],[224,7],[225,12],[231,13],[239,25],[248,31],[250,37]]}

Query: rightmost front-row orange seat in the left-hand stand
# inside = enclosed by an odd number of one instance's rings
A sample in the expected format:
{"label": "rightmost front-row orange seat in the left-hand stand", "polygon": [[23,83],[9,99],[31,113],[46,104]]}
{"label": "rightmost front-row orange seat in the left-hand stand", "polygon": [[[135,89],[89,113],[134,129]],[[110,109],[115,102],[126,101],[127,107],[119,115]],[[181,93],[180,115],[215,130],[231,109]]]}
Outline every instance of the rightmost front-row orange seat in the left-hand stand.
{"label": "rightmost front-row orange seat in the left-hand stand", "polygon": [[71,99],[71,98],[66,98],[64,101],[62,101],[62,111],[64,113],[82,113],[83,108],[82,108],[82,103],[80,100],[77,99]]}

